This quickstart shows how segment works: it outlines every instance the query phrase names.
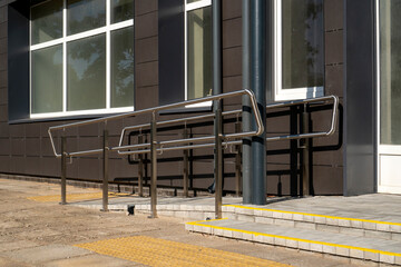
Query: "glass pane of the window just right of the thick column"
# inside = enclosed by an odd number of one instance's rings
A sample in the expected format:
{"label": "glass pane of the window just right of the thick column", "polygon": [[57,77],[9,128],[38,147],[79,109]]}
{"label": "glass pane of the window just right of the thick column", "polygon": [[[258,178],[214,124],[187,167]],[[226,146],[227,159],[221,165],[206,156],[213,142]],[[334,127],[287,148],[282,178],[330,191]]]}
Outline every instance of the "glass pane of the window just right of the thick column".
{"label": "glass pane of the window just right of the thick column", "polygon": [[282,1],[283,89],[323,87],[323,0]]}

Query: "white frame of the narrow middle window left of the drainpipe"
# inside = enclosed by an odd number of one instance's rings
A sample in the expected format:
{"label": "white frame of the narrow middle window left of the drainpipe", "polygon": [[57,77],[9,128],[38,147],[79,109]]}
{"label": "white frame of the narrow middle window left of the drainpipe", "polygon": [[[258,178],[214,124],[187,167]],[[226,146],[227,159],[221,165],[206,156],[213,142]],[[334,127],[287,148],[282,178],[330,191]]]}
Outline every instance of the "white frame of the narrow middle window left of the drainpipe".
{"label": "white frame of the narrow middle window left of the drainpipe", "polygon": [[[187,3],[187,0],[185,1],[185,14],[184,14],[184,69],[185,69],[185,73],[184,73],[184,90],[185,90],[185,100],[188,100],[188,12],[196,10],[196,9],[202,9],[202,8],[207,8],[212,6],[212,0],[200,0],[200,1],[196,1],[196,2],[192,2],[192,3]],[[194,105],[188,105],[185,106],[186,108],[197,108],[197,107],[211,107],[212,106],[212,101],[207,101],[207,102],[200,102],[200,103],[194,103]]]}

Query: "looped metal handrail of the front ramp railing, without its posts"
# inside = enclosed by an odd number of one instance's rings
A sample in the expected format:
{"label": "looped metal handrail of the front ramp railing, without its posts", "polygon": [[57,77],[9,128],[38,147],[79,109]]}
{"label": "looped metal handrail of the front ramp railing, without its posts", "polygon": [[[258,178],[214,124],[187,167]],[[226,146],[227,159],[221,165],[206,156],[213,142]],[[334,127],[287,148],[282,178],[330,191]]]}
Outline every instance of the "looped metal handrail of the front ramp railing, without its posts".
{"label": "looped metal handrail of the front ramp railing, without its posts", "polygon": [[[251,99],[253,115],[255,117],[257,129],[254,130],[254,131],[246,131],[246,132],[231,134],[231,135],[222,135],[222,138],[227,140],[227,139],[239,139],[239,138],[244,138],[244,137],[260,136],[264,131],[264,127],[263,127],[261,113],[258,112],[258,109],[257,109],[256,98],[255,98],[254,93],[248,89],[243,89],[243,90],[234,91],[234,92],[226,92],[226,93],[222,93],[222,95],[218,95],[218,96],[209,96],[209,97],[205,97],[205,98],[187,100],[187,101],[177,102],[177,103],[165,105],[165,106],[160,106],[160,107],[156,107],[156,108],[148,108],[148,109],[143,109],[143,110],[138,110],[138,111],[131,111],[131,112],[127,112],[127,113],[123,113],[123,115],[109,116],[109,117],[99,118],[99,119],[72,122],[72,123],[67,123],[67,125],[61,125],[61,126],[53,126],[53,127],[49,127],[48,134],[49,134],[49,137],[50,137],[52,151],[53,151],[53,154],[55,154],[55,156],[57,158],[60,158],[62,155],[58,154],[57,149],[55,147],[55,141],[53,141],[53,137],[52,137],[52,131],[53,130],[66,130],[68,128],[74,128],[74,127],[79,127],[79,126],[86,126],[86,125],[99,123],[99,122],[107,122],[107,121],[115,120],[115,119],[123,119],[123,118],[127,118],[127,117],[145,115],[145,113],[155,113],[155,112],[166,110],[166,109],[174,109],[174,108],[185,107],[185,106],[188,106],[188,105],[206,102],[206,101],[222,100],[222,99],[225,99],[225,98],[243,96],[243,95],[247,95],[250,97],[250,99]],[[224,115],[229,115],[229,113],[234,113],[234,112],[228,111],[228,112],[225,112]],[[196,119],[202,119],[202,118],[207,118],[207,117],[209,117],[209,116],[197,116]],[[177,120],[167,120],[167,121],[162,121],[162,122],[164,122],[164,123],[173,123],[174,122],[175,123],[175,122],[177,122]],[[124,138],[124,132],[125,131],[123,129],[121,139]],[[188,142],[202,142],[202,141],[214,140],[214,138],[215,138],[214,136],[208,136],[208,137],[189,138],[189,139],[177,139],[177,140],[164,141],[164,142],[160,141],[160,142],[157,142],[157,145],[158,146],[164,146],[164,145],[178,145],[178,144],[188,144]],[[213,144],[209,144],[209,145],[213,146]],[[139,146],[134,145],[134,146],[137,146],[136,148],[143,147],[141,145],[139,145]],[[145,147],[148,147],[148,146],[150,146],[150,145],[149,144],[145,145]],[[121,146],[121,140],[120,140],[119,146],[109,147],[109,150],[116,150],[120,155],[125,155],[126,152],[121,152],[120,150],[129,149],[129,148],[133,148],[133,147],[131,146]],[[167,149],[165,149],[165,150],[167,150]],[[102,151],[104,151],[104,149],[91,149],[91,150],[84,150],[84,151],[66,152],[66,155],[67,155],[67,157],[77,157],[77,156],[87,156],[87,155],[101,154]]]}

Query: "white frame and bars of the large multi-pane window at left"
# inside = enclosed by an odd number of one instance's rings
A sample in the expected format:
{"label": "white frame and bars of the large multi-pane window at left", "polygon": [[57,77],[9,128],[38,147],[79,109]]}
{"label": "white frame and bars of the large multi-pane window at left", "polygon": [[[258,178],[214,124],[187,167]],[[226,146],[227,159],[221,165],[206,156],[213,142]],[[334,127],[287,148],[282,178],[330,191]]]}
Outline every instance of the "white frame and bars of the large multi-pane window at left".
{"label": "white frame and bars of the large multi-pane window at left", "polygon": [[[40,6],[42,3],[38,3],[36,6]],[[32,7],[36,7],[32,6]],[[31,8],[32,8],[31,7]],[[110,0],[106,0],[106,26],[92,30],[88,30],[85,32],[79,32],[76,34],[68,36],[67,34],[67,0],[63,0],[63,8],[62,8],[62,37],[56,40],[31,44],[31,20],[29,21],[29,46],[30,46],[30,66],[29,66],[29,106],[30,106],[30,118],[38,119],[38,118],[53,118],[53,117],[67,117],[67,116],[80,116],[80,115],[105,115],[105,113],[116,113],[116,112],[128,112],[134,111],[134,106],[130,107],[121,107],[121,108],[111,108],[111,31],[128,28],[134,26],[134,19],[111,23],[111,2]],[[88,109],[88,110],[74,110],[67,111],[67,43],[94,37],[97,34],[106,33],[106,108],[104,109]],[[62,44],[62,111],[59,112],[46,112],[46,113],[32,113],[32,77],[31,77],[31,52],[49,48],[52,46]]]}

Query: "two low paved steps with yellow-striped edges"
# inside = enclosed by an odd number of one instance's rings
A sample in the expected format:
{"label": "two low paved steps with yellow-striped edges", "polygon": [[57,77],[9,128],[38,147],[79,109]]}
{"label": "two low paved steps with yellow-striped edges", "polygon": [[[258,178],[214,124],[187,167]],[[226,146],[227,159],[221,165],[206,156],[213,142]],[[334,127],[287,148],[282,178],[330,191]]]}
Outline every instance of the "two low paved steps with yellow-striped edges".
{"label": "two low paved steps with yellow-striped edges", "polygon": [[186,229],[227,238],[401,265],[401,222],[223,206],[224,218],[187,222]]}

